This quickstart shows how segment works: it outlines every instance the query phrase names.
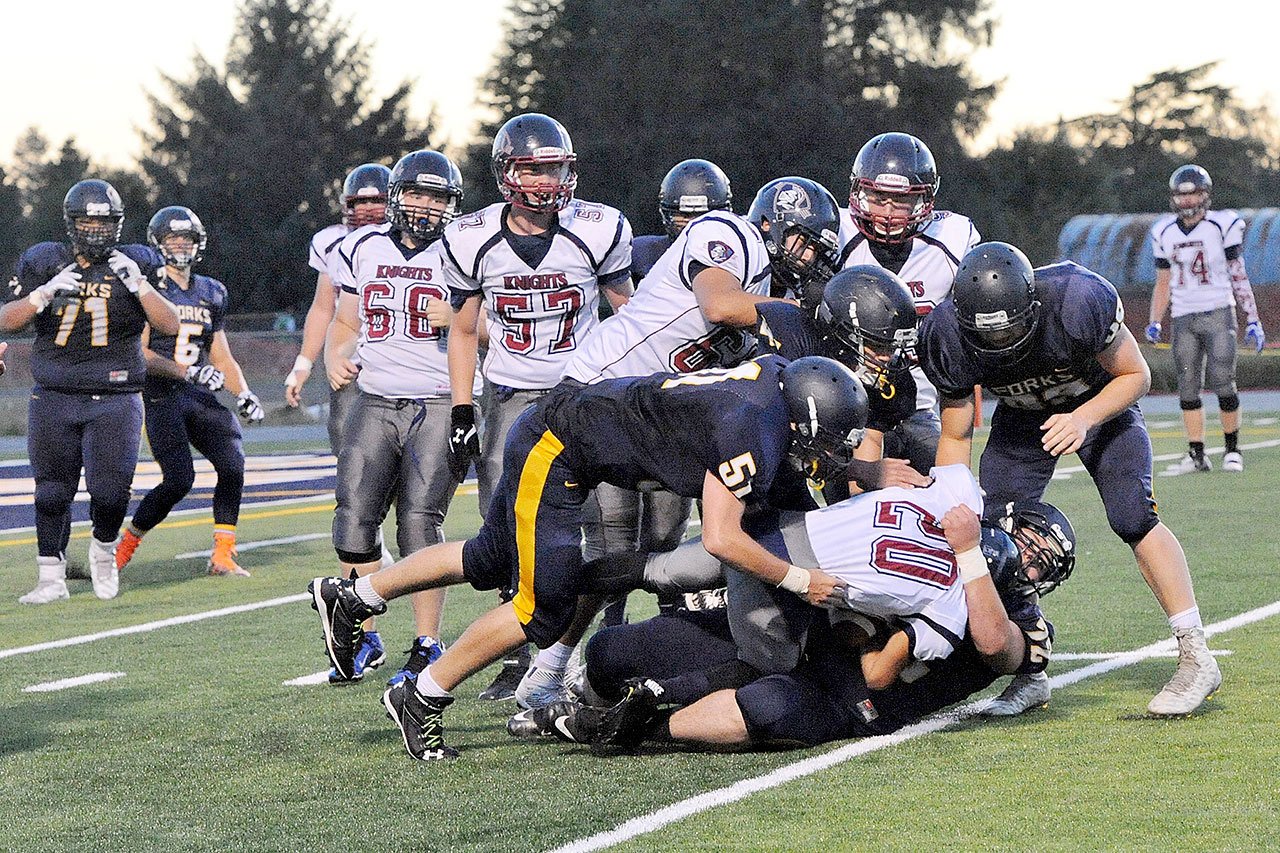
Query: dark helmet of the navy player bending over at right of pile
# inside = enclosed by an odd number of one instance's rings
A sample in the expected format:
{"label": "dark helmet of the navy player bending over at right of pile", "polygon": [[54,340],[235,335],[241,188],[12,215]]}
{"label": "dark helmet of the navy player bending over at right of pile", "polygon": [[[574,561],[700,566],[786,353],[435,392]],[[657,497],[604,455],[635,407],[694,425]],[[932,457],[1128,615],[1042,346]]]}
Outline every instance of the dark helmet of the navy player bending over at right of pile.
{"label": "dark helmet of the navy player bending over at right of pile", "polygon": [[1036,272],[1027,255],[1009,243],[979,243],[960,259],[951,298],[960,337],[977,361],[1015,364],[1030,348],[1039,327]]}

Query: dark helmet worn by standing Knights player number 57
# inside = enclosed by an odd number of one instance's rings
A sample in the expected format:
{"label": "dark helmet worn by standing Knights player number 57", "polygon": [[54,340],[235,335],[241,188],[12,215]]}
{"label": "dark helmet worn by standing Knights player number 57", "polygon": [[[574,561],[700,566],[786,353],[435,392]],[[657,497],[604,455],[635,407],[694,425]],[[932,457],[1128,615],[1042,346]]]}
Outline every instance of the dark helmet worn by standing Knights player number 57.
{"label": "dark helmet worn by standing Knights player number 57", "polygon": [[[525,113],[498,129],[493,137],[493,177],[502,197],[517,207],[534,211],[563,210],[577,187],[577,155],[568,131],[549,115]],[[552,182],[529,188],[520,168],[552,165]]]}

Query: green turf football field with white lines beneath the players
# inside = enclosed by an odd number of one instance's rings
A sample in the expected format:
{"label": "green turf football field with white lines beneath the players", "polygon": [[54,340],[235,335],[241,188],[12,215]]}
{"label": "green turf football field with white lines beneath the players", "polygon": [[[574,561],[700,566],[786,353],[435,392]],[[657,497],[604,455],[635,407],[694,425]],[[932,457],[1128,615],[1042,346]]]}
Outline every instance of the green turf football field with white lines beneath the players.
{"label": "green turf football field with white lines beneath the players", "polygon": [[[1242,442],[1280,439],[1275,416],[1248,412]],[[1149,418],[1157,453],[1183,447],[1174,419]],[[1245,460],[1244,474],[1157,478],[1206,624],[1280,601],[1280,447],[1247,450]],[[1074,466],[1074,459],[1062,464]],[[1107,530],[1088,478],[1055,482],[1050,498],[1080,540],[1076,574],[1047,599],[1055,651],[1121,652],[1165,639],[1165,620],[1128,548]],[[239,538],[321,533],[330,517],[324,503],[247,508]],[[449,535],[475,525],[474,496],[460,496]],[[76,534],[78,553],[87,532]],[[599,760],[563,744],[511,740],[504,719],[512,707],[474,699],[492,675],[484,672],[460,689],[445,717],[463,757],[417,765],[383,716],[376,674],[343,688],[282,684],[325,669],[319,624],[301,593],[307,579],[335,567],[326,542],[246,552],[252,579],[214,579],[200,558],[173,560],[209,547],[209,534],[207,516],[174,519],[148,535],[119,599],[99,602],[81,580],[70,584],[70,602],[37,608],[15,602],[35,574],[31,535],[0,537],[0,849],[541,850],[632,818],[652,826],[648,816],[687,798],[858,749],[623,848],[1280,847],[1280,616],[1211,638],[1211,648],[1230,652],[1220,658],[1226,680],[1188,720],[1140,717],[1172,671],[1171,658],[1157,657],[1060,686],[1047,711],[965,721],[901,743]],[[282,597],[300,601],[12,653]],[[451,592],[447,638],[493,601]],[[649,607],[640,602],[632,612]],[[393,666],[411,633],[408,607],[393,606],[383,621]],[[1061,661],[1050,674],[1091,663]],[[92,672],[124,675],[23,692]]]}

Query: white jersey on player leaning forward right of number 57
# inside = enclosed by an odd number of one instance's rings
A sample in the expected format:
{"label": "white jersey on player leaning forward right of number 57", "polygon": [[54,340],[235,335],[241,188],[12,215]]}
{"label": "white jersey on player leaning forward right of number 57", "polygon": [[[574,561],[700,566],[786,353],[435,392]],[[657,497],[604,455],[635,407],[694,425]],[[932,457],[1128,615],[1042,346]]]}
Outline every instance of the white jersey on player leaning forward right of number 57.
{"label": "white jersey on player leaning forward right of number 57", "polygon": [[703,266],[731,273],[751,293],[769,293],[769,257],[755,225],[726,211],[703,214],[658,259],[631,301],[582,341],[564,375],[590,384],[731,368],[748,357],[750,329],[708,323],[698,307],[692,282]]}

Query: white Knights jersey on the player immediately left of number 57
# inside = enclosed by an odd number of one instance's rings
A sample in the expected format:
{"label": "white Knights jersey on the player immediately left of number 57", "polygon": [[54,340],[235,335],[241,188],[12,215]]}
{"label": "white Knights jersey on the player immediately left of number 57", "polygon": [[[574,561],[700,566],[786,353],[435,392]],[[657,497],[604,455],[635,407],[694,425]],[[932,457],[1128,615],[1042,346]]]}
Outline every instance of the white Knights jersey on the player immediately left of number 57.
{"label": "white Knights jersey on the player immediately left of number 57", "polygon": [[357,228],[334,252],[334,280],[360,298],[356,384],[393,400],[447,396],[447,338],[426,321],[428,298],[449,301],[440,241],[411,250],[390,231],[389,224]]}

